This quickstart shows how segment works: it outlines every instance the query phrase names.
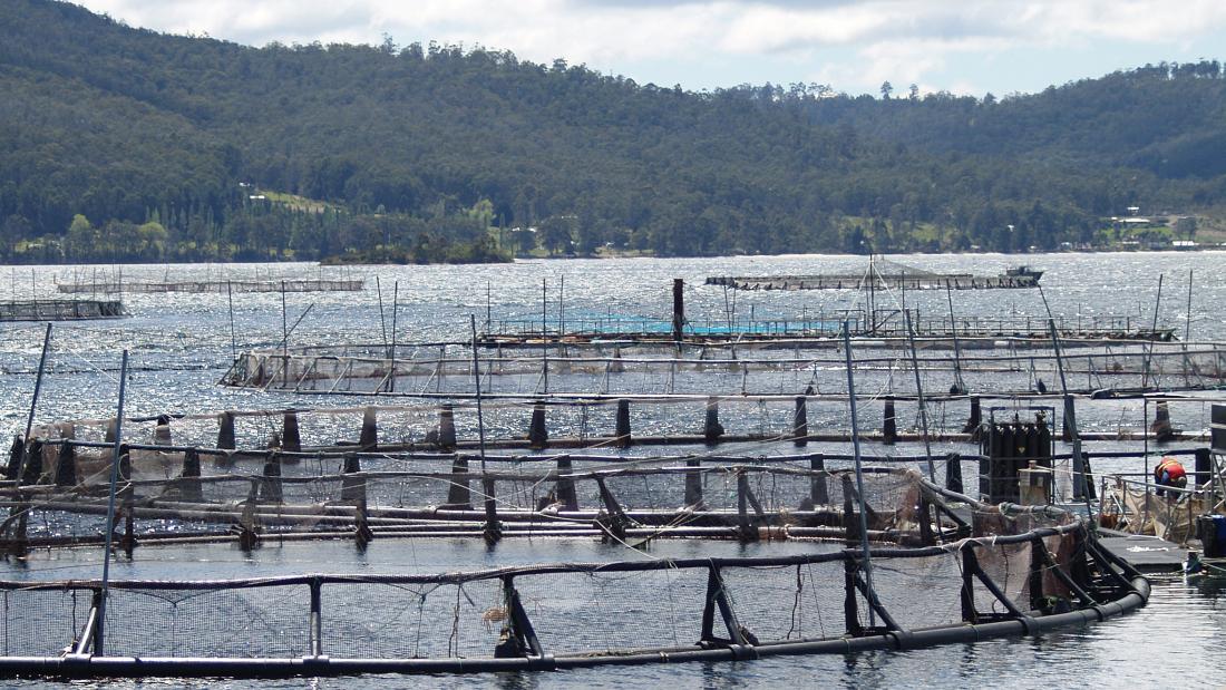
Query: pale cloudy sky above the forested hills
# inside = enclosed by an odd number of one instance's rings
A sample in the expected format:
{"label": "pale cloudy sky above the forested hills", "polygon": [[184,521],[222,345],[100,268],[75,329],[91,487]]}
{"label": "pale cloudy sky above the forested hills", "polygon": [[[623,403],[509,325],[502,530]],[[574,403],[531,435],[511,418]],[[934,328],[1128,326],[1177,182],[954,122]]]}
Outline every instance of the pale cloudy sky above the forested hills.
{"label": "pale cloudy sky above the forested hills", "polygon": [[701,91],[1034,93],[1226,58],[1224,0],[78,0],[129,26],[248,45],[483,45]]}

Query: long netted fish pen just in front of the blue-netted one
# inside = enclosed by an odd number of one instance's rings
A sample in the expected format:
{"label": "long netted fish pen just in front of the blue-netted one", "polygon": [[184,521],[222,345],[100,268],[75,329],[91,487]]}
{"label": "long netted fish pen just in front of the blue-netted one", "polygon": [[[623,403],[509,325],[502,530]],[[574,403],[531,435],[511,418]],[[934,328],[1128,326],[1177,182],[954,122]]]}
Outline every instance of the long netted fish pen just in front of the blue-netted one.
{"label": "long netted fish pen just in front of the blue-netted one", "polygon": [[[846,353],[835,342],[647,343],[586,342],[536,351],[468,343],[316,346],[240,353],[223,386],[306,395],[418,397],[571,395],[707,396],[709,391],[765,396],[810,389],[846,396]],[[868,347],[873,349],[866,353]],[[853,341],[857,387],[916,395],[918,375],[929,397],[948,393],[1024,396],[1057,391],[1110,395],[1209,390],[1226,379],[1224,343],[1101,341],[1076,349],[932,352],[906,342]],[[474,371],[476,369],[476,371]]]}

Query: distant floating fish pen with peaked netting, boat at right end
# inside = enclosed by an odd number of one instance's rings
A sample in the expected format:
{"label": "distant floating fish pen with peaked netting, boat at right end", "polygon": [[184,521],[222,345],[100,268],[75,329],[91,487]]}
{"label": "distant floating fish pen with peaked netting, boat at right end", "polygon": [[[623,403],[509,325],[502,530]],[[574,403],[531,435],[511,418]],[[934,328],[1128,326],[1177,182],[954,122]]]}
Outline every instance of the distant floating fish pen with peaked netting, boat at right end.
{"label": "distant floating fish pen with peaked netting, boat at right end", "polygon": [[1038,287],[1042,271],[1016,266],[997,276],[934,273],[883,259],[870,259],[862,273],[817,273],[809,276],[712,276],[709,286],[738,290],[826,290],[826,289],[939,289],[983,290]]}

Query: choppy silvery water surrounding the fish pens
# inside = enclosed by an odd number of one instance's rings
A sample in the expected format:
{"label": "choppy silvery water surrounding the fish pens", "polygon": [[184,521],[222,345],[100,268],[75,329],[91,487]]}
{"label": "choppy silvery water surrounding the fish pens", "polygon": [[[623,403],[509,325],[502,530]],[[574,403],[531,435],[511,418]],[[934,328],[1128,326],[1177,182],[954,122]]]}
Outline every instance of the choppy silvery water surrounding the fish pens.
{"label": "choppy silvery water surrounding the fish pens", "polygon": [[[1190,330],[1193,339],[1226,338],[1226,270],[1222,254],[1097,254],[1041,255],[1026,257],[1046,270],[1045,292],[1057,315],[1092,317],[1094,315],[1130,315],[1146,324],[1152,316],[1159,276],[1163,276],[1159,325],[1182,335],[1188,325],[1188,271],[1194,271]],[[996,273],[1016,262],[1015,257],[982,256],[910,256],[901,261],[934,271]],[[397,330],[400,341],[463,339],[468,336],[468,315],[483,321],[487,310],[487,284],[492,286],[492,317],[539,319],[541,281],[548,281],[550,320],[557,319],[557,289],[565,281],[568,317],[584,314],[622,314],[667,317],[671,309],[672,278],[685,278],[687,313],[691,320],[720,320],[725,315],[721,288],[702,286],[712,275],[815,273],[862,267],[861,259],[825,256],[741,257],[711,260],[558,260],[521,262],[511,266],[411,266],[363,267],[346,272],[364,277],[368,289],[360,293],[304,293],[287,297],[288,320],[308,306],[310,314],[291,337],[292,344],[340,342],[380,342],[380,325],[374,278],[378,276],[386,304],[392,286],[398,282]],[[88,275],[92,268],[78,271]],[[302,266],[147,266],[124,267],[124,277],[139,279],[273,277],[302,276],[318,270]],[[65,268],[17,268],[10,272],[9,288],[16,298],[51,297],[53,276],[71,278]],[[330,275],[329,271],[324,272]],[[336,273],[331,273],[336,275]],[[850,308],[857,297],[850,292],[742,293],[738,313],[756,317],[790,317],[821,310]],[[880,295],[878,300],[880,303]],[[286,395],[233,391],[215,386],[230,359],[228,303],[224,294],[124,295],[132,317],[92,324],[58,324],[49,375],[37,419],[105,418],[113,414],[118,381],[119,353],[131,351],[135,369],[128,389],[129,415],[153,415],[167,411],[208,412],[226,408],[256,408],[303,404],[354,404],[346,400],[311,400],[304,403]],[[943,314],[945,294],[923,290],[907,294],[908,304],[923,313]],[[991,290],[954,294],[959,315],[1019,314],[1042,319],[1046,313],[1036,290]],[[390,310],[389,310],[390,315]],[[281,341],[281,295],[235,294],[234,322],[237,346],[275,347]],[[390,327],[390,324],[387,325]],[[33,371],[37,369],[42,326],[34,324],[0,325],[0,429],[20,430],[25,425]],[[831,412],[831,419],[839,417]],[[1079,411],[1080,413],[1081,411]],[[868,411],[866,424],[873,424]],[[965,414],[950,411],[949,415]],[[1172,411],[1177,427],[1203,429],[1208,425],[1206,406],[1181,403]],[[1111,428],[1127,420],[1139,425],[1140,404],[1114,402],[1087,411],[1086,424]],[[843,423],[845,425],[845,423]],[[353,430],[356,436],[356,429]],[[1102,444],[1098,450],[1129,447],[1128,444]],[[867,452],[886,452],[869,447]],[[962,450],[971,452],[972,449]],[[1095,447],[1089,450],[1094,451]],[[918,452],[913,446],[897,446],[891,452]],[[1102,467],[1096,469],[1134,469]],[[1141,469],[1137,467],[1135,469]],[[695,548],[694,544],[661,547]],[[712,549],[731,548],[727,544]],[[793,548],[788,545],[787,548]],[[577,554],[577,555],[576,555]],[[265,548],[255,563],[224,547],[192,548],[177,552],[139,549],[136,563],[118,566],[116,577],[226,577],[272,572],[337,571],[352,567],[362,571],[451,570],[484,566],[490,563],[528,560],[584,560],[587,558],[630,558],[625,552],[611,552],[595,544],[535,542],[506,544],[490,556],[484,549],[449,542],[387,543],[376,542],[360,559],[347,545]],[[658,554],[657,554],[658,555]],[[582,556],[582,558],[580,558]],[[494,559],[494,560],[490,560]],[[5,564],[6,576],[59,578],[96,576],[97,554],[75,552],[71,555],[33,558],[26,566]],[[1220,588],[1214,583],[1160,581],[1149,608],[1119,620],[1072,630],[1040,639],[993,641],[977,645],[926,650],[910,653],[872,653],[857,657],[791,657],[736,664],[688,664],[677,667],[608,668],[543,675],[499,675],[483,679],[509,688],[535,686],[641,686],[668,684],[678,688],[726,685],[855,685],[855,686],[1215,686],[1226,681],[1226,672],[1211,661],[1219,653],[1222,625]],[[409,686],[467,685],[471,679],[432,677],[428,679],[342,679],[311,681],[319,686]],[[175,683],[178,684],[178,683]],[[200,683],[199,685],[215,685]],[[232,683],[230,686],[255,684]],[[303,681],[260,684],[261,686],[300,686]]]}

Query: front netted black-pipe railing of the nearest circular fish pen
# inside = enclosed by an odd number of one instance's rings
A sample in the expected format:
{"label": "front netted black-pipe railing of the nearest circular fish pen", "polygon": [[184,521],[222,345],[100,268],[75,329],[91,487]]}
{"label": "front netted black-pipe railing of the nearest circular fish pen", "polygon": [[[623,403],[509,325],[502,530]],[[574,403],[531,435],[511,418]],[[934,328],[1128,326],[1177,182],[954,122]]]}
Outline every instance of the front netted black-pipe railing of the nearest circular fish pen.
{"label": "front netted black-pipe railing of the nearest circular fish pen", "polygon": [[[933,501],[969,500],[926,488]],[[0,675],[293,677],[734,661],[1036,634],[1144,605],[1146,581],[1101,549],[1081,521],[1052,509],[973,510],[975,538],[875,548],[870,560],[839,549],[446,575],[112,581],[105,620],[98,581],[0,582]]]}

